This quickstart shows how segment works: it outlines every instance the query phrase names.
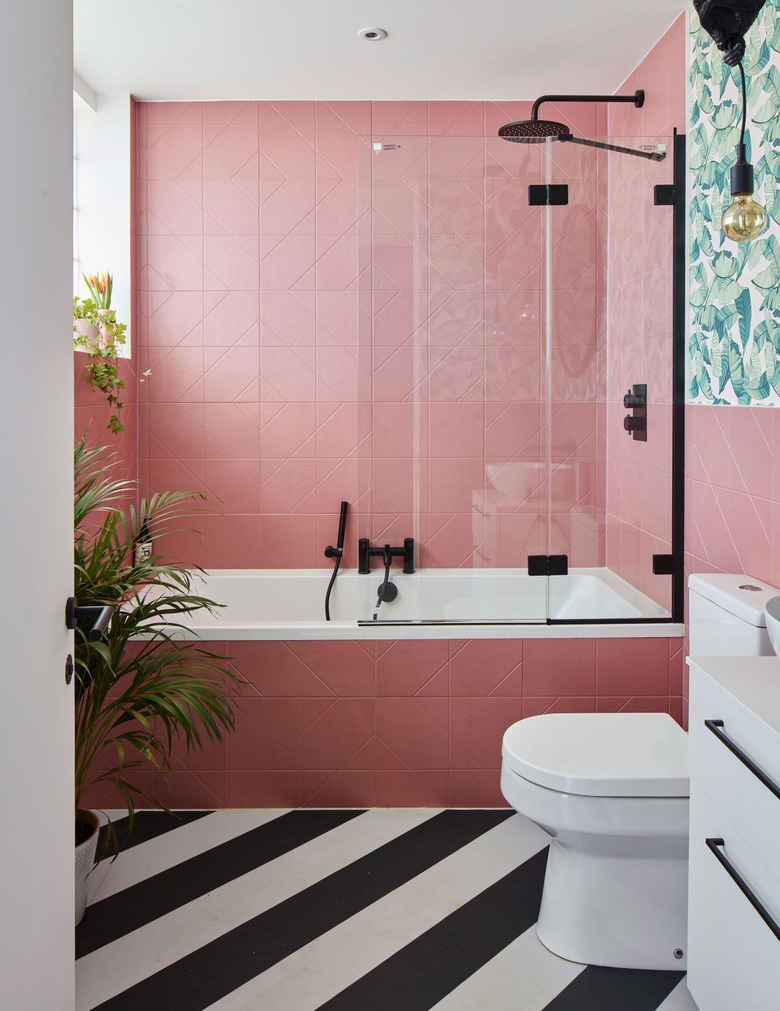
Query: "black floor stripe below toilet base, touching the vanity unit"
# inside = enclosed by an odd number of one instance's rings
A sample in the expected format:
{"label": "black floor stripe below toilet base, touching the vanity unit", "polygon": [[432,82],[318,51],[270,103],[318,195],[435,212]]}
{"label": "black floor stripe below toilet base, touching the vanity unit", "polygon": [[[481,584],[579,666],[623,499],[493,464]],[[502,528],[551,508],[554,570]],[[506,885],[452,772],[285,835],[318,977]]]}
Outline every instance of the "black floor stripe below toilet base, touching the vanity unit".
{"label": "black floor stripe below toilet base, touching the vanity unit", "polygon": [[588,966],[545,1011],[657,1011],[684,976]]}

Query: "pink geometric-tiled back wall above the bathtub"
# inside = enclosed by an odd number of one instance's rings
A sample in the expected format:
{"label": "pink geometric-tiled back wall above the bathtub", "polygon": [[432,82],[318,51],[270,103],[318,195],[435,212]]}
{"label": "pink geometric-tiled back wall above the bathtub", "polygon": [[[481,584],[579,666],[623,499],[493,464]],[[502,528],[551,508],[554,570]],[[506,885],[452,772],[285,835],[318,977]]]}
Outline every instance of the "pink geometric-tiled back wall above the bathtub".
{"label": "pink geometric-tiled back wall above the bathtub", "polygon": [[[138,104],[139,469],[207,496],[183,557],[327,564],[343,498],[349,565],[359,536],[413,535],[436,566],[545,550],[542,152],[495,135],[528,113]],[[586,106],[549,114],[597,128]],[[600,564],[598,193],[581,150],[555,161],[575,198],[554,237],[553,547]]]}

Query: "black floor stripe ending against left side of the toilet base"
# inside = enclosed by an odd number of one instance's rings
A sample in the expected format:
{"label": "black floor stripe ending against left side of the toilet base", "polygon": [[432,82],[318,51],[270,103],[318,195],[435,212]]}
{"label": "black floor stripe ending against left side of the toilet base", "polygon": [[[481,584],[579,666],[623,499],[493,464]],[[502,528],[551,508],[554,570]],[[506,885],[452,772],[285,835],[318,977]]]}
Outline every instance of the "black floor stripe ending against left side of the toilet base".
{"label": "black floor stripe ending against left side of the toilet base", "polygon": [[[427,1011],[433,1007],[537,922],[547,854],[546,847],[318,1011]],[[521,991],[516,1006],[522,1007]]]}

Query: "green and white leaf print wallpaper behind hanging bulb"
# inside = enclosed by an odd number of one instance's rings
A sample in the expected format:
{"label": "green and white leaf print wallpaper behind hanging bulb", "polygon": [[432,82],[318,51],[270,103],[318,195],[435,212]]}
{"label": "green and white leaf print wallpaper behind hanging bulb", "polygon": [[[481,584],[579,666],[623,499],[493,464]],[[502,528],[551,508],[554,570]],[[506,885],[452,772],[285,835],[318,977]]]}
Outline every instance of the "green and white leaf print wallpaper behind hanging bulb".
{"label": "green and white leaf print wallpaper behind hanging bulb", "polygon": [[691,403],[780,405],[780,0],[768,0],[747,37],[748,160],[770,215],[761,239],[720,232],[730,203],[742,99],[739,71],[690,18]]}

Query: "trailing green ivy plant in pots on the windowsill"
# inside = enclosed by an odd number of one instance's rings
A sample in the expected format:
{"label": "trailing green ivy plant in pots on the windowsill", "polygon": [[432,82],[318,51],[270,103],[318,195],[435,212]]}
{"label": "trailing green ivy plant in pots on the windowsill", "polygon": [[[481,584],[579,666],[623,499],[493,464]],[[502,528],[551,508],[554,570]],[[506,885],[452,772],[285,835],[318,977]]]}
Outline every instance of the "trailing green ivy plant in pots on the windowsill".
{"label": "trailing green ivy plant in pots on the windowsill", "polygon": [[119,348],[126,340],[127,327],[119,323],[112,308],[98,305],[92,298],[73,299],[73,346],[90,356],[87,363],[89,381],[94,390],[105,395],[111,407],[106,428],[119,435],[124,431],[119,412],[124,380],[119,376]]}

